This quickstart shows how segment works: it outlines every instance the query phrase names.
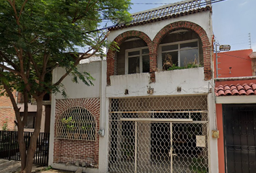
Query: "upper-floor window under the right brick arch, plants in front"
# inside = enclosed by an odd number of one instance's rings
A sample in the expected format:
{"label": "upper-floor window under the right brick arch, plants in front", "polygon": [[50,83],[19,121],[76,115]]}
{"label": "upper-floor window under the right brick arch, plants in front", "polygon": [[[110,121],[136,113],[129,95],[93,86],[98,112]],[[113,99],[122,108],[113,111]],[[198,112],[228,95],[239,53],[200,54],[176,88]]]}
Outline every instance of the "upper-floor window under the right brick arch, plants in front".
{"label": "upper-floor window under the right brick arch, plants in front", "polygon": [[199,64],[198,40],[187,40],[160,45],[158,68],[168,70],[171,66],[187,67]]}

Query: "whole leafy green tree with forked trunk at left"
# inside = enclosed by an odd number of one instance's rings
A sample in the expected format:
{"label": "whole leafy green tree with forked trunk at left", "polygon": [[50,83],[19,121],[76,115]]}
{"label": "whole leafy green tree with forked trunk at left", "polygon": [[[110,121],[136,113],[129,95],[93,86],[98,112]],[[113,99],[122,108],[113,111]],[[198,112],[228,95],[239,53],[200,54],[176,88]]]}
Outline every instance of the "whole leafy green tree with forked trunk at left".
{"label": "whole leafy green tree with forked trunk at left", "polygon": [[[80,73],[76,66],[80,60],[101,52],[108,33],[90,31],[106,19],[114,24],[129,20],[129,6],[130,0],[0,0],[0,82],[12,101],[17,119],[22,173],[30,173],[32,169],[43,96],[61,92],[61,81],[69,74],[74,81],[81,79],[87,85],[92,84],[92,76]],[[77,47],[87,51],[78,54]],[[66,73],[53,84],[51,72],[57,66],[65,68]],[[12,95],[13,89],[24,96],[23,117]],[[26,152],[23,132],[29,95],[37,103],[37,114]]]}

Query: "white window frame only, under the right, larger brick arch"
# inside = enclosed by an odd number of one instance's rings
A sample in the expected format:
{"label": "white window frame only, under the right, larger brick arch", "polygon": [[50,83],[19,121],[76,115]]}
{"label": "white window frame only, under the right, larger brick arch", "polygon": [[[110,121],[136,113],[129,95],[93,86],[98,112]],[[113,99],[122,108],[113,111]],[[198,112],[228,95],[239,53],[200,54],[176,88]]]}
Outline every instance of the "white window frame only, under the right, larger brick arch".
{"label": "white window frame only, under the right, larger brick arch", "polygon": [[[198,39],[192,39],[192,40],[185,40],[185,41],[179,41],[179,42],[174,42],[174,43],[165,43],[165,44],[161,44],[159,45],[159,48],[158,48],[158,69],[160,69],[160,71],[163,71],[163,65],[162,65],[162,61],[163,61],[163,57],[162,57],[162,53],[167,53],[167,52],[175,52],[175,51],[178,51],[178,63],[179,63],[179,66],[181,64],[181,50],[190,50],[190,49],[195,49],[195,48],[180,48],[180,45],[181,44],[184,44],[184,43],[193,43],[193,42],[197,42],[197,53],[198,53],[198,63],[200,61],[200,47],[199,47],[199,40]],[[166,45],[178,45],[178,49],[175,49],[175,50],[166,50],[166,51],[162,51],[162,48],[163,46],[166,46]]]}

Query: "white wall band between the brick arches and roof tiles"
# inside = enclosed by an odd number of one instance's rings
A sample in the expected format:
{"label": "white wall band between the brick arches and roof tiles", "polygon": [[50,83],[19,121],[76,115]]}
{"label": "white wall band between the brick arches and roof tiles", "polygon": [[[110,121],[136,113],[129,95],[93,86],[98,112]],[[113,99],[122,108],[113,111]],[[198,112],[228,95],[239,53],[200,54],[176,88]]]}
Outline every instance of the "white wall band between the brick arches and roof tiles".
{"label": "white wall band between the brick arches and roof tiles", "polygon": [[158,22],[152,22],[149,24],[145,25],[138,25],[135,27],[127,27],[121,30],[114,30],[111,31],[108,40],[113,41],[118,35],[120,35],[123,32],[127,32],[129,30],[138,30],[141,32],[144,32],[148,37],[150,37],[151,40],[154,39],[155,35],[166,25],[169,25],[174,22],[179,22],[179,21],[189,21],[189,22],[194,22],[197,25],[200,25],[205,32],[208,35],[209,40],[211,40],[212,35],[213,35],[213,28],[212,28],[212,19],[211,19],[211,12],[199,12],[196,14],[189,14],[187,16],[183,17],[176,17],[176,18],[171,18],[171,19],[165,19],[161,20]]}

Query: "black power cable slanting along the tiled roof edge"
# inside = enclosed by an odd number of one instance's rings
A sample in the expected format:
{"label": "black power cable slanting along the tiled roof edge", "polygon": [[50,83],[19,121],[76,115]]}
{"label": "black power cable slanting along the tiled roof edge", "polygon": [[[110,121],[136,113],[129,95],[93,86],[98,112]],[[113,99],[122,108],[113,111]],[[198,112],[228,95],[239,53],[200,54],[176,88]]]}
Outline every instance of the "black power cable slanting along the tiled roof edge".
{"label": "black power cable slanting along the tiled roof edge", "polygon": [[[193,5],[193,7],[200,7],[200,6],[204,6],[204,5],[208,5],[208,4],[214,4],[214,3],[217,3],[217,2],[220,2],[220,1],[226,1],[226,0],[210,0],[210,1],[205,1],[205,2],[201,2],[200,4],[196,4],[196,5]],[[174,9],[174,10],[171,10],[170,12],[163,12],[163,13],[160,13],[160,14],[155,14],[153,16],[150,16],[146,19],[152,19],[152,18],[155,18],[155,17],[160,17],[161,15],[164,15],[164,14],[172,14],[172,13],[175,13],[175,12],[179,12],[179,10],[182,10],[182,9],[187,9],[188,6],[184,6],[182,8],[179,8],[179,9]],[[127,24],[131,24],[131,23],[135,23],[135,22],[140,22],[142,21],[142,19],[136,19],[136,20],[132,20],[131,22],[124,22],[124,23],[121,23],[119,25],[111,25],[109,27],[102,27],[101,29],[98,29],[98,30],[92,30],[92,31],[88,31],[88,32],[85,32],[85,34],[88,34],[90,32],[98,32],[98,31],[101,31],[101,30],[108,30],[109,28],[111,27],[117,27],[117,26],[121,26],[121,25],[127,25]]]}

